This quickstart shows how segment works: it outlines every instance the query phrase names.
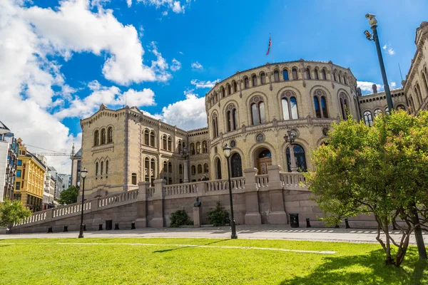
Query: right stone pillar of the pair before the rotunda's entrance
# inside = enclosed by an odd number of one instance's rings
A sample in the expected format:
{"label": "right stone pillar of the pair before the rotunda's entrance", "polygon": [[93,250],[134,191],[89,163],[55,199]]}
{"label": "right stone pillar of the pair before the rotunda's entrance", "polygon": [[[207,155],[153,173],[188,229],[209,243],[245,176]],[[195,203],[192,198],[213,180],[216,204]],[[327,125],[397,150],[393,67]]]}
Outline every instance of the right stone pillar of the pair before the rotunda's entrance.
{"label": "right stone pillar of the pair before the rotunda's entrance", "polygon": [[267,220],[269,224],[287,224],[287,214],[284,210],[284,197],[282,196],[280,170],[281,167],[279,165],[270,165],[267,167],[270,204],[270,212],[267,214]]}

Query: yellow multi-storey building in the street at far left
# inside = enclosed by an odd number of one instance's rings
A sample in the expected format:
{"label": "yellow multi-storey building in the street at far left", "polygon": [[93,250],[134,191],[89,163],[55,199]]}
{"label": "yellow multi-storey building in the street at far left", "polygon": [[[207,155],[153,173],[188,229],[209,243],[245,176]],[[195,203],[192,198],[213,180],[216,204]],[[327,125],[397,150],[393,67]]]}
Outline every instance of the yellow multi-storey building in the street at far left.
{"label": "yellow multi-storey building in the street at far left", "polygon": [[19,144],[19,155],[16,167],[16,184],[14,199],[20,200],[33,212],[41,210],[43,204],[44,175],[46,167],[22,143]]}

